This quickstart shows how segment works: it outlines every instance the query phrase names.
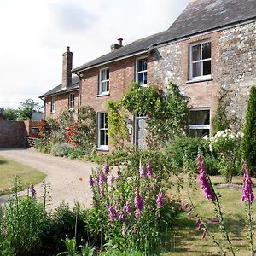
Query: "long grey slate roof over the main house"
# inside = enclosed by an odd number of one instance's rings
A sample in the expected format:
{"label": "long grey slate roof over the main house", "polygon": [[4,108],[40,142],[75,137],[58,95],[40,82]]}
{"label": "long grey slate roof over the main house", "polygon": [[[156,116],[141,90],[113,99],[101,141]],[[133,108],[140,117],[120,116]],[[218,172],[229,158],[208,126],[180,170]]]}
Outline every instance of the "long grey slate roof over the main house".
{"label": "long grey slate roof over the main house", "polygon": [[164,32],[127,44],[107,55],[74,68],[73,72],[102,65],[201,32],[256,19],[256,0],[192,0],[177,20]]}

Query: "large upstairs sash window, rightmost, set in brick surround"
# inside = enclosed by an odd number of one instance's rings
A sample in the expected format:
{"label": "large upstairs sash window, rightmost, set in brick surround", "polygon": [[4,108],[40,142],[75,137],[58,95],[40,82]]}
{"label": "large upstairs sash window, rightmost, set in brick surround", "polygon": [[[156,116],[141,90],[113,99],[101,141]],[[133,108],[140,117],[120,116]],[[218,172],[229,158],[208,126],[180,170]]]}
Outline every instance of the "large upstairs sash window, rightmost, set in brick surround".
{"label": "large upstairs sash window, rightmost, set in brick surround", "polygon": [[211,79],[211,42],[189,45],[189,80]]}

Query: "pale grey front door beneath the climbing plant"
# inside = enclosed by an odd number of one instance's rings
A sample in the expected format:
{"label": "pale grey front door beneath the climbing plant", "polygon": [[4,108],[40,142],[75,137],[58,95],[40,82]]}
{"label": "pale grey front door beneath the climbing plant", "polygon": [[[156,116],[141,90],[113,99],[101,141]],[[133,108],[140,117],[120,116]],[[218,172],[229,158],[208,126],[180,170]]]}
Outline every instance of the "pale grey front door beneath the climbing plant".
{"label": "pale grey front door beneath the climbing plant", "polygon": [[136,134],[135,142],[138,148],[147,148],[147,118],[136,117]]}

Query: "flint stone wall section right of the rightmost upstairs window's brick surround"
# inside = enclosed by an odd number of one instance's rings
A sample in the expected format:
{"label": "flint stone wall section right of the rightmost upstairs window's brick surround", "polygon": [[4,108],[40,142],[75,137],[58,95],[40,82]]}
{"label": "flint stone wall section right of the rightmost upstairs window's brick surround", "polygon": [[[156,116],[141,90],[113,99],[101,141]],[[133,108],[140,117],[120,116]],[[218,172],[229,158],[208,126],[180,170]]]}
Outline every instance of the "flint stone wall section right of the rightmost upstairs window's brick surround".
{"label": "flint stone wall section right of the rightmost upstairs window's brick surround", "polygon": [[256,84],[256,22],[221,32],[220,84],[230,96],[230,114],[244,120],[250,88]]}

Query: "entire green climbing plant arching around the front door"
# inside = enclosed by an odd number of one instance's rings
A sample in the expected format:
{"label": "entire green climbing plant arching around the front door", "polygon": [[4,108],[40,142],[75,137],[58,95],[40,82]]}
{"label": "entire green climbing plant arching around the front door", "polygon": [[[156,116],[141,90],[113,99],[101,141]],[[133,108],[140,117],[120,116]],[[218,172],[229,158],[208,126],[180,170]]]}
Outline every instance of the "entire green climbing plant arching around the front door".
{"label": "entire green climbing plant arching around the front door", "polygon": [[108,136],[113,145],[127,133],[125,118],[120,114],[124,113],[123,108],[134,115],[148,117],[149,148],[162,148],[174,137],[188,131],[188,99],[175,84],[170,83],[164,93],[155,84],[145,88],[131,83],[130,91],[121,102],[108,102]]}

